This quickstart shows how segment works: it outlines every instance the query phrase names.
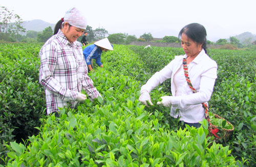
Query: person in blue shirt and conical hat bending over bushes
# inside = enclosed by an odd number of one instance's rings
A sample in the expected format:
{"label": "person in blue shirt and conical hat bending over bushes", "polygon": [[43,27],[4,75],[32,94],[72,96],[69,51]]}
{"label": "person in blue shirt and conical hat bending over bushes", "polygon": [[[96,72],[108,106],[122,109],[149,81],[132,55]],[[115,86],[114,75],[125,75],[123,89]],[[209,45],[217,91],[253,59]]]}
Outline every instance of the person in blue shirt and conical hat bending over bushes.
{"label": "person in blue shirt and conical hat bending over bushes", "polygon": [[103,67],[101,63],[101,53],[102,51],[113,50],[113,45],[110,43],[108,38],[101,39],[94,42],[94,44],[87,46],[83,49],[83,57],[86,60],[89,71],[93,71],[92,59],[95,59],[96,64],[99,67]]}

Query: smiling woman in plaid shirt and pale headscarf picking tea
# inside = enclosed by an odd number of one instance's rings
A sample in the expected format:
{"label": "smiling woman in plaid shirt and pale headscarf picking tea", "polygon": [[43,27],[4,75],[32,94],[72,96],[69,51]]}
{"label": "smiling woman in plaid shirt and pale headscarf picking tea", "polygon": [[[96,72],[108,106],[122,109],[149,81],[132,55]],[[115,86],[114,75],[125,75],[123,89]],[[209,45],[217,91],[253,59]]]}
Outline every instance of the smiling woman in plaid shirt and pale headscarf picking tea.
{"label": "smiling woman in plaid shirt and pale headscarf picking tea", "polygon": [[[55,25],[54,34],[42,46],[39,82],[45,88],[47,114],[58,113],[59,107],[74,108],[78,102],[101,97],[88,76],[82,48],[77,38],[86,30],[87,22],[80,11],[72,8]],[[57,114],[58,116],[58,114]]]}

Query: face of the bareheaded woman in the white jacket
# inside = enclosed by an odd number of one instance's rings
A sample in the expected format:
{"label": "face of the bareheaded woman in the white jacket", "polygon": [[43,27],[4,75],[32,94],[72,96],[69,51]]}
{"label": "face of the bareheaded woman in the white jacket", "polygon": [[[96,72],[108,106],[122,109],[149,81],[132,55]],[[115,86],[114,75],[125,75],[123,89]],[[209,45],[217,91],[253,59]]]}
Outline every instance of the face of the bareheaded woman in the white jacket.
{"label": "face of the bareheaded woman in the white jacket", "polygon": [[187,57],[196,57],[202,50],[202,45],[188,38],[186,34],[181,34],[181,47]]}

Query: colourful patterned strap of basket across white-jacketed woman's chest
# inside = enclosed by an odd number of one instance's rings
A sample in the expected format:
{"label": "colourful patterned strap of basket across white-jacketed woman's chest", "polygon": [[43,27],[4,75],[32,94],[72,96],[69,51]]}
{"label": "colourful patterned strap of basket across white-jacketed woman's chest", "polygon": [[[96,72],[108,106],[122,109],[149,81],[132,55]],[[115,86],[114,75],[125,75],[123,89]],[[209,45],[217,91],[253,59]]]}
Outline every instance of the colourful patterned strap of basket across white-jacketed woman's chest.
{"label": "colourful patterned strap of basket across white-jacketed woman's chest", "polygon": [[[193,93],[197,93],[196,89],[193,88],[192,84],[191,84],[191,81],[189,79],[189,76],[188,76],[188,69],[187,69],[187,60],[186,58],[183,58],[183,69],[184,69],[184,74],[185,74],[185,77],[186,77],[186,81],[187,81],[187,84],[189,86],[189,88],[193,91]],[[211,131],[212,134],[214,134],[217,138],[220,138],[218,135],[217,135],[217,132],[219,131],[219,129],[217,128],[212,128],[212,124],[210,123],[210,118],[209,118],[209,112],[208,112],[208,106],[205,102],[202,103],[203,107],[204,107],[204,111],[205,111],[205,119],[208,121],[209,123],[209,130]]]}

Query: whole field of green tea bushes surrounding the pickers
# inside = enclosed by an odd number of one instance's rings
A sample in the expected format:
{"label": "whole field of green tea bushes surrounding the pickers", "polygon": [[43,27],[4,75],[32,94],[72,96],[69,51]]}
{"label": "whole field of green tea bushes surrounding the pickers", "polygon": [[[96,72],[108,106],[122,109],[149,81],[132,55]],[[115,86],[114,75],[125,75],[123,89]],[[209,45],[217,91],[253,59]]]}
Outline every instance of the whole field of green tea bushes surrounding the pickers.
{"label": "whole field of green tea bushes surrounding the pickers", "polygon": [[[46,116],[38,83],[42,43],[0,43],[0,166],[254,166],[256,53],[210,49],[218,78],[209,111],[234,125],[216,144],[208,130],[181,129],[169,108],[145,107],[140,87],[181,48],[114,45],[90,77],[103,101],[89,99]],[[170,81],[151,92],[170,95]]]}

